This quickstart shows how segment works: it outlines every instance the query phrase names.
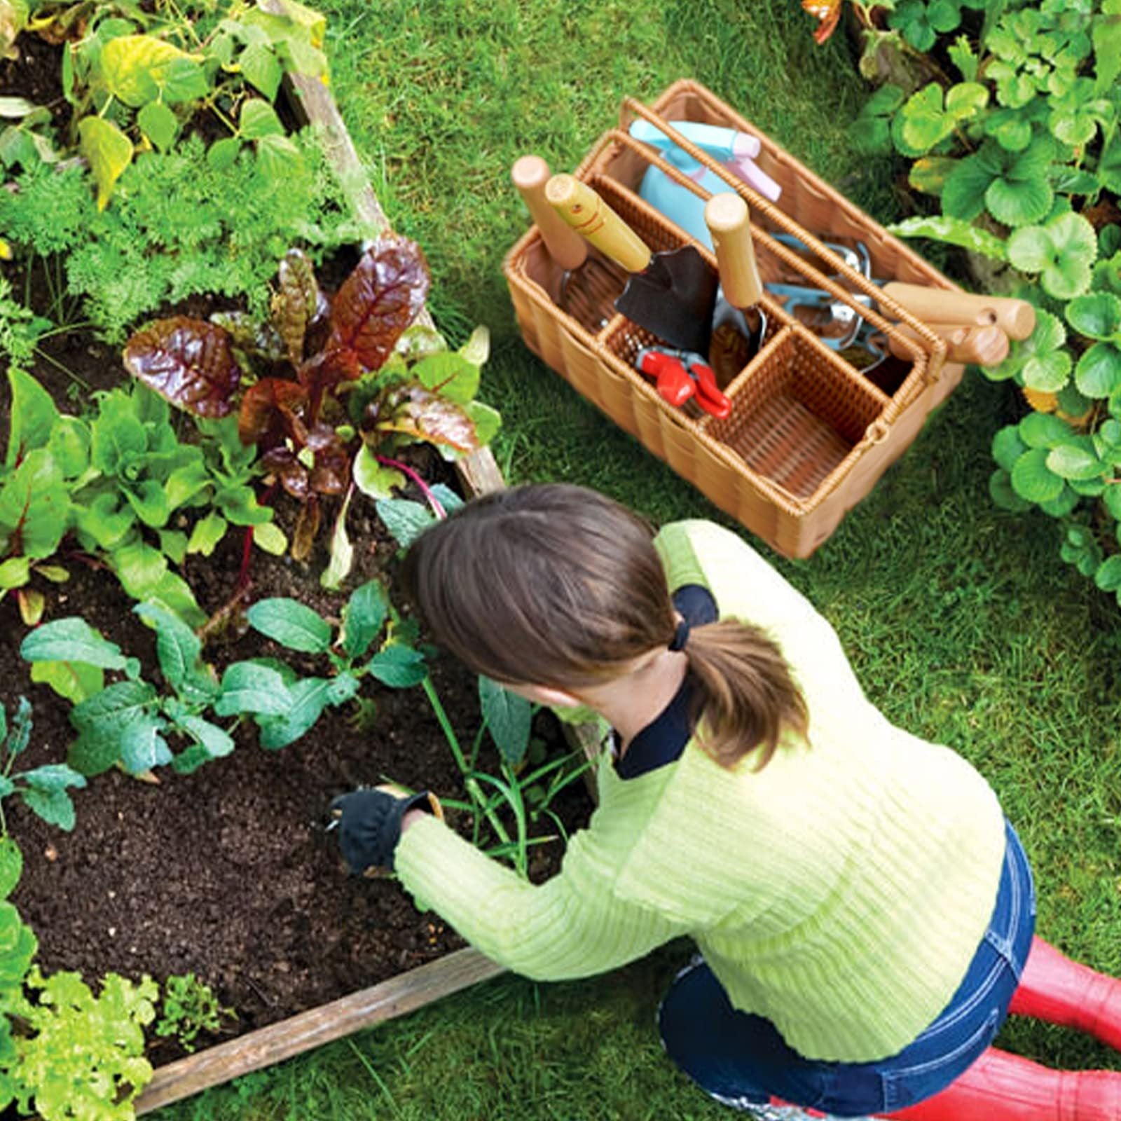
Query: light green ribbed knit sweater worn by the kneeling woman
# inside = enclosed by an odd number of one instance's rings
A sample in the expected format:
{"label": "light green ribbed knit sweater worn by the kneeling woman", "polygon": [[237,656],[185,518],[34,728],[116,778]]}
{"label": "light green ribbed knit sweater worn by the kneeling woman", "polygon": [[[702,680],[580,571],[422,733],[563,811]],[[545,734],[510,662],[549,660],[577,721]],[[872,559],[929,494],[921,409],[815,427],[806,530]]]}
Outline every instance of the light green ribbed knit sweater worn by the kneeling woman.
{"label": "light green ribbed knit sweater worn by the kneeling woman", "polygon": [[435,819],[409,828],[406,888],[484,954],[527,976],[587,976],[692,935],[734,1007],[810,1058],[893,1055],[948,1002],[984,934],[1004,851],[983,778],[890,724],[832,627],[734,534],[667,526],[670,589],[708,587],[723,619],[762,627],[809,708],[809,743],[761,771],[724,770],[695,743],[622,780],[560,872],[538,887]]}

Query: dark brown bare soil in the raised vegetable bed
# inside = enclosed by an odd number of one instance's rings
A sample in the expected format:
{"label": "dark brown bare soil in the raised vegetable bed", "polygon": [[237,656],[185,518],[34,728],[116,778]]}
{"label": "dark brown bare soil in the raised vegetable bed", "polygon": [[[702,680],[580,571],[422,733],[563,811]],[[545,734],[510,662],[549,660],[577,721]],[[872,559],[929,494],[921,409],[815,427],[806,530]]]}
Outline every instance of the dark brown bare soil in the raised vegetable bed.
{"label": "dark brown bare soil in the raised vegetable bed", "polygon": [[[372,512],[352,512],[349,526],[358,549],[353,587],[386,564],[389,549],[378,544],[386,535]],[[240,548],[230,536],[211,560],[195,558],[186,568],[205,610],[232,594]],[[325,558],[318,553],[304,567],[258,552],[252,597],[291,595],[337,617],[343,597],[319,589]],[[71,581],[48,593],[47,617],[82,614],[138,655],[146,676],[158,680],[154,636],[131,614],[115,578],[82,560],[68,567]],[[11,601],[0,604],[0,702],[11,712],[26,694],[35,707],[33,747],[20,766],[61,761],[73,739],[70,703],[30,683],[18,656],[26,629]],[[260,655],[326,671],[322,661],[252,631],[206,654],[219,671]],[[479,726],[474,677],[442,659],[433,678],[461,742],[470,743]],[[87,979],[106,971],[157,979],[194,972],[237,1009],[230,1030],[241,1032],[462,946],[438,917],[418,912],[396,882],[348,877],[334,835],[324,830],[331,798],[359,785],[392,779],[463,797],[423,692],[367,683],[361,695],[377,705],[370,726],[355,726],[353,710],[328,710],[303,740],[279,752],[258,747],[250,724],[238,731],[232,756],[192,776],[166,770],[158,785],[118,771],[99,776],[76,793],[78,821],[70,834],[13,807],[9,825],[26,860],[13,902],[39,937],[44,969],[80,970]],[[563,750],[552,717],[539,717],[535,731],[552,741],[550,750]],[[493,749],[487,751],[483,766],[497,769]],[[555,808],[569,827],[584,824],[591,807],[583,785],[564,791]],[[454,813],[450,819],[466,826]],[[531,877],[547,878],[560,843],[531,853]],[[158,1046],[166,1053],[157,1050],[157,1062],[173,1057],[173,1045]]]}

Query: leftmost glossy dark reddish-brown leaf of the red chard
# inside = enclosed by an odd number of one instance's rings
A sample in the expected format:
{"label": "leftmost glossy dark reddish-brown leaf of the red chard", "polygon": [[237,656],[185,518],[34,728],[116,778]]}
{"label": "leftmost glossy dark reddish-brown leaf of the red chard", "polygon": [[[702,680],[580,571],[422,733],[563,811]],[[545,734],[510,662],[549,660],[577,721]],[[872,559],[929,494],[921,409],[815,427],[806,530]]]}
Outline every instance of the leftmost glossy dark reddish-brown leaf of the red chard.
{"label": "leftmost glossy dark reddish-brown leaf of the red chard", "polygon": [[230,336],[213,323],[176,315],[136,332],[124,348],[124,368],[161,397],[201,417],[233,409],[241,367]]}

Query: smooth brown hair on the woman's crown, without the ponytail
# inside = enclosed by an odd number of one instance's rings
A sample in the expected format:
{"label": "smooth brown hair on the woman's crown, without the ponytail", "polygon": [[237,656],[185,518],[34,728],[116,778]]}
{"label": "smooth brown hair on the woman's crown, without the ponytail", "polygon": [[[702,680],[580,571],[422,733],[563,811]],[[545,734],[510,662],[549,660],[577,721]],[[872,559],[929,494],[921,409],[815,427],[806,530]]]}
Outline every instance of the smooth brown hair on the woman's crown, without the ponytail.
{"label": "smooth brown hair on the woman's crown, without the ponytail", "polygon": [[433,638],[504,684],[600,684],[676,626],[650,527],[560,483],[498,491],[433,526],[405,581]]}

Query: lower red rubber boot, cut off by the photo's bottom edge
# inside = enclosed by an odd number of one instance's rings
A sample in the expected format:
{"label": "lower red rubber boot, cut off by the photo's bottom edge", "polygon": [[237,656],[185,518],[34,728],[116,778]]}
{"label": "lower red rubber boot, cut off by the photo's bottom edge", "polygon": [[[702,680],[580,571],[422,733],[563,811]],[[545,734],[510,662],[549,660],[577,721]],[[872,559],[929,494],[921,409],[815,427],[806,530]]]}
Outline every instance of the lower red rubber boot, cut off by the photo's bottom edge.
{"label": "lower red rubber boot, cut off by the photo's bottom edge", "polygon": [[1121,1072],[1053,1071],[990,1047],[899,1121],[1121,1121]]}

